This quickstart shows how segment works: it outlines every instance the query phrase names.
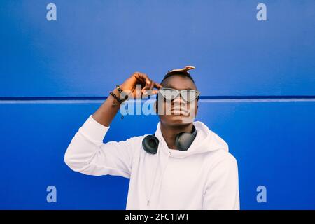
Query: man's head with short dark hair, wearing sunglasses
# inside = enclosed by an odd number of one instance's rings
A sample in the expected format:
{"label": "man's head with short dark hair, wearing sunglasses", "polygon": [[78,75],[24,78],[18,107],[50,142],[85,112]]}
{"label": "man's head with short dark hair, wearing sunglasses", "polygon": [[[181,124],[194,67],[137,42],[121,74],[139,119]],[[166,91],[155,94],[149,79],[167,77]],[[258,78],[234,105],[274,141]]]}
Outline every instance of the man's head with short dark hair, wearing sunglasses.
{"label": "man's head with short dark hair, wearing sunglasses", "polygon": [[197,114],[199,92],[188,72],[190,69],[195,67],[174,69],[162,79],[163,88],[158,93],[156,110],[165,125],[187,125],[193,122]]}

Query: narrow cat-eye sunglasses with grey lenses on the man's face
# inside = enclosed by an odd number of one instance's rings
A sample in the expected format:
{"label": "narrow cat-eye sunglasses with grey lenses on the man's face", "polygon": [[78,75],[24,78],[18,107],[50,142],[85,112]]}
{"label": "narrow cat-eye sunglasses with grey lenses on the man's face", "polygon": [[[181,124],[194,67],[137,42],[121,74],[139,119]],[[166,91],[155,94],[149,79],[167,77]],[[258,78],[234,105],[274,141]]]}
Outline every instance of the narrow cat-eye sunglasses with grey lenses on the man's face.
{"label": "narrow cat-eye sunglasses with grey lenses on the man's face", "polygon": [[159,90],[159,94],[167,100],[173,100],[181,94],[181,98],[186,102],[193,102],[195,99],[199,99],[200,91],[198,90],[175,90],[169,87],[162,87]]}

